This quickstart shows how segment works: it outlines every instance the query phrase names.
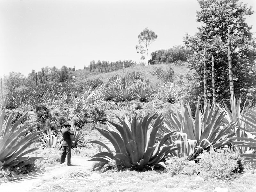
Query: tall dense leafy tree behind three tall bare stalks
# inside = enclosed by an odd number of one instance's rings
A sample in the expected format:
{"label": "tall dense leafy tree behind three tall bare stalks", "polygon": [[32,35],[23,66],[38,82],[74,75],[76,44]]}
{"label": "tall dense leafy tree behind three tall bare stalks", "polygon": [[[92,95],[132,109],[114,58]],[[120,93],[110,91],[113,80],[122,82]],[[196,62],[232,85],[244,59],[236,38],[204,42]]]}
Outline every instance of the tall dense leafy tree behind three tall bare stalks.
{"label": "tall dense leafy tree behind three tall bare stalks", "polygon": [[[251,26],[245,23],[245,16],[252,15],[252,8],[238,0],[198,0],[201,10],[197,11],[197,21],[204,25],[194,36],[184,38],[185,45],[194,52],[188,57],[190,67],[196,70],[194,79],[199,85],[188,93],[195,103],[197,96],[204,93],[204,61],[206,48],[207,84],[212,82],[212,56],[215,65],[216,102],[228,103],[230,98],[228,76],[228,28],[231,35],[231,57],[233,82],[236,97],[252,97],[256,85],[256,44],[250,32]],[[212,100],[212,88],[208,87],[208,98]],[[194,99],[193,99],[194,98]]]}

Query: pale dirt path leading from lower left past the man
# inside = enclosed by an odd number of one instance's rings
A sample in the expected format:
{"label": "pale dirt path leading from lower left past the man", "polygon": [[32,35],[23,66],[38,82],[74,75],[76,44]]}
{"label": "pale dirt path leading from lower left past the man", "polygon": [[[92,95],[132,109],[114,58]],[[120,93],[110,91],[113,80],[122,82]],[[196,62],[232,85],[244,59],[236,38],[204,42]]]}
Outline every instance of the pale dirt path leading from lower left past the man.
{"label": "pale dirt path leading from lower left past the man", "polygon": [[14,181],[9,181],[6,183],[0,183],[0,191],[1,192],[25,192],[25,191],[33,191],[39,185],[44,185],[47,181],[52,181],[54,179],[60,179],[62,176],[71,170],[74,167],[80,167],[83,169],[91,169],[94,161],[88,161],[88,157],[71,157],[71,163],[75,166],[67,166],[67,163],[63,163],[61,165],[57,165],[52,167],[51,170],[40,174],[29,176],[28,178],[17,179]]}

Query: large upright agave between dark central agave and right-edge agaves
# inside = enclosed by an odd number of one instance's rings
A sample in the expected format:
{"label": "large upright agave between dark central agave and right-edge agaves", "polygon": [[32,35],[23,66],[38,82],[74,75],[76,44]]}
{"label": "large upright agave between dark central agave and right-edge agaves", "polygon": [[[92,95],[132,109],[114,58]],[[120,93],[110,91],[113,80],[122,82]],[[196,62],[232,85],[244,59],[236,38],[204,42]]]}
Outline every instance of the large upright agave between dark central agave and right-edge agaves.
{"label": "large upright agave between dark central agave and right-edge agaves", "polygon": [[196,105],[195,117],[192,116],[189,105],[181,105],[181,112],[177,115],[171,111],[171,116],[166,114],[164,125],[170,131],[178,129],[180,133],[186,133],[188,139],[196,140],[198,147],[208,151],[211,146],[220,148],[229,144],[228,137],[234,136],[230,129],[236,122],[224,124],[225,113],[216,110],[215,105],[210,107],[208,102],[204,112],[200,111],[199,99]]}

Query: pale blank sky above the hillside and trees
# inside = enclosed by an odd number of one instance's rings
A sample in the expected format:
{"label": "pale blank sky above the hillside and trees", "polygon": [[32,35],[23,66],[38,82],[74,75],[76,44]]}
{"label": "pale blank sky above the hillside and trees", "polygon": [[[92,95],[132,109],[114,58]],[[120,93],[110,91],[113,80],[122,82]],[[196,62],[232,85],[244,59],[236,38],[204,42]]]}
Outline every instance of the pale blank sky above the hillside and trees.
{"label": "pale blank sky above the hillside and trees", "polygon": [[[242,1],[256,10],[255,0]],[[201,25],[196,10],[196,0],[0,0],[0,76],[83,69],[92,60],[140,62],[135,46],[143,29],[158,35],[149,53],[182,44]],[[256,24],[255,13],[247,23]]]}

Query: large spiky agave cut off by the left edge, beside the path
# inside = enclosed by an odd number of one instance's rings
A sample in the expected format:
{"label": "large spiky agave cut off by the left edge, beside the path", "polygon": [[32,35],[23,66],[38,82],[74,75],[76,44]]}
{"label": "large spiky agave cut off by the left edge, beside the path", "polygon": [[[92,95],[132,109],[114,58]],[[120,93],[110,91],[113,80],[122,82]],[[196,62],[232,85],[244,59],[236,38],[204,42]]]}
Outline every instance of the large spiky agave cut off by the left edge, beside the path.
{"label": "large spiky agave cut off by the left edge, beside the path", "polygon": [[0,109],[0,167],[3,168],[22,168],[40,158],[26,157],[26,155],[38,149],[33,148],[27,150],[28,146],[34,143],[44,130],[27,134],[37,123],[30,126],[26,124],[18,128],[28,111],[15,124],[12,124],[13,112],[10,114],[8,120],[4,122],[5,108],[3,110]]}

